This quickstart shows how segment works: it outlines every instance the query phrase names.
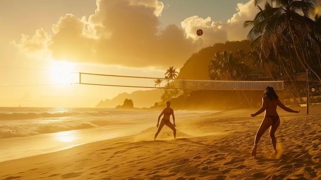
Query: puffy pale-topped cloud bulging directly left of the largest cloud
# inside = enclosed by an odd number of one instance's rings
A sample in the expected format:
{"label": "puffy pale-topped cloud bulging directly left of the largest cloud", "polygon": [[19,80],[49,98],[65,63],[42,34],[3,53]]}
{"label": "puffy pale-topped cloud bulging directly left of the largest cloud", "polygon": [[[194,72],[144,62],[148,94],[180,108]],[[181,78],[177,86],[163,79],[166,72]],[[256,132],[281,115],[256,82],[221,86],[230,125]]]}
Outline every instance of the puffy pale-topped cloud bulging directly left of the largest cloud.
{"label": "puffy pale-topped cloud bulging directly left of the largest cloud", "polygon": [[57,61],[96,62],[94,45],[96,39],[92,38],[90,30],[86,27],[85,17],[77,18],[72,14],[61,17],[56,25],[52,26],[54,35],[48,49]]}

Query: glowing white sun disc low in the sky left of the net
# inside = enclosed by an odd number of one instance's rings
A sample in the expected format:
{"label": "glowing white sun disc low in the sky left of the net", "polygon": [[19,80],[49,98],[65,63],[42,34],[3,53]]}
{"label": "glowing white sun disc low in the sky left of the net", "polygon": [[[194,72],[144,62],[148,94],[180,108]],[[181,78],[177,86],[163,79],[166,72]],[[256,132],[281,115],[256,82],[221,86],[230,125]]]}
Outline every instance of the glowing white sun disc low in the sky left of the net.
{"label": "glowing white sun disc low in the sky left of the net", "polygon": [[77,82],[74,73],[74,64],[66,61],[52,62],[50,65],[50,78],[54,84],[72,84]]}

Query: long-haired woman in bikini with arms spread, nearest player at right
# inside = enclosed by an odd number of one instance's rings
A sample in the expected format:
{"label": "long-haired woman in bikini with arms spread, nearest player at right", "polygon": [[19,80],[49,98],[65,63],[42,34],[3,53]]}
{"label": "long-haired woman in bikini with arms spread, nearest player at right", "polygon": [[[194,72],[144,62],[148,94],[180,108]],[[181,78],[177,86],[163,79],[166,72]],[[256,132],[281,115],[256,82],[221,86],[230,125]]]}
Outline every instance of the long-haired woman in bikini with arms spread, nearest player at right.
{"label": "long-haired woman in bikini with arms spread, nearest player at right", "polygon": [[294,110],[286,107],[284,104],[282,104],[279,101],[278,96],[276,95],[276,93],[272,87],[266,87],[265,92],[263,93],[262,102],[263,102],[262,108],[259,109],[256,113],[251,114],[251,116],[254,117],[254,116],[262,113],[263,111],[265,111],[264,119],[263,119],[261,125],[259,126],[257,133],[255,135],[254,146],[253,146],[253,149],[251,152],[252,156],[256,155],[257,143],[259,142],[259,139],[261,138],[263,133],[268,128],[270,128],[269,133],[270,133],[271,142],[273,145],[273,152],[274,152],[274,154],[277,154],[276,139],[274,136],[276,129],[280,125],[280,119],[279,119],[278,114],[276,112],[277,106],[279,106],[280,108],[282,108],[288,112],[295,112],[295,113],[300,112],[300,111],[294,111]]}

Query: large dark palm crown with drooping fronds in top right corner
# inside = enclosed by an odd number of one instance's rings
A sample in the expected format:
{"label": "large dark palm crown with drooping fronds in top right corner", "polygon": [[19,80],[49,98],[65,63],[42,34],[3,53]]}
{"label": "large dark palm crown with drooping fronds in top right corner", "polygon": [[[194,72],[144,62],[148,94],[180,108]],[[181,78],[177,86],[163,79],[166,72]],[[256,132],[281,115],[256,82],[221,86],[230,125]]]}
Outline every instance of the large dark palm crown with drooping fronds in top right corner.
{"label": "large dark palm crown with drooping fronds in top right corner", "polygon": [[[254,4],[259,7],[259,2],[261,1],[255,0]],[[259,7],[260,12],[254,20],[244,23],[245,27],[253,25],[248,34],[252,48],[259,47],[267,59],[274,51],[280,69],[285,72],[284,79],[295,77],[297,72],[305,72],[309,68],[321,81],[320,74],[315,69],[316,61],[311,58],[311,54],[319,52],[321,48],[321,28],[309,18],[311,10],[317,4],[320,4],[319,0],[266,1],[265,9]],[[320,59],[319,54],[316,59]],[[291,82],[298,92],[292,78]]]}

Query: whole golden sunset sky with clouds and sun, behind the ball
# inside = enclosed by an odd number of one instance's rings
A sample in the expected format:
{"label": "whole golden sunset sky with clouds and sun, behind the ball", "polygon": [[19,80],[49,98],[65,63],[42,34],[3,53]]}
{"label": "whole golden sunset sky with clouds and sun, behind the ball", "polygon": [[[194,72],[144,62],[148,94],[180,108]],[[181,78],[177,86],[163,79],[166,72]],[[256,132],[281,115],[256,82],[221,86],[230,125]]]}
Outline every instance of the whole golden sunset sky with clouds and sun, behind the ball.
{"label": "whole golden sunset sky with clouds and sun, behind the ball", "polygon": [[164,78],[202,48],[246,39],[257,12],[254,0],[1,0],[0,106],[95,107],[150,90],[82,85],[77,72]]}

